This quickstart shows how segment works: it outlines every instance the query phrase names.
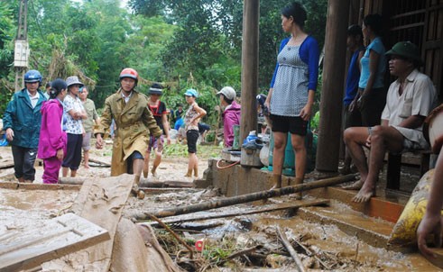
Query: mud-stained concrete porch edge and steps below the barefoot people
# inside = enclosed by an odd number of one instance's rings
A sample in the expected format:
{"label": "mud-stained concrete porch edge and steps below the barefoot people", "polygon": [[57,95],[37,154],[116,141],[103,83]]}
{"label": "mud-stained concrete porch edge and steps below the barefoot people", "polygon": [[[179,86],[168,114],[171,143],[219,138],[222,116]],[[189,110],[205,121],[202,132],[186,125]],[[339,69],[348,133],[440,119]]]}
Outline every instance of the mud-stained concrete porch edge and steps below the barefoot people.
{"label": "mud-stained concrete porch edge and steps below the barefoot people", "polygon": [[[223,164],[221,166],[223,167]],[[206,185],[219,188],[226,196],[264,191],[272,186],[272,172],[259,168],[244,168],[240,165],[217,168],[216,159],[208,160],[206,174]],[[282,186],[290,185],[292,179],[293,177],[283,176]],[[313,180],[315,179],[306,178],[305,182]],[[304,194],[305,198],[330,199],[331,204],[328,207],[303,207],[298,210],[298,214],[308,221],[335,224],[341,231],[357,235],[370,245],[386,248],[393,225],[408,202],[409,195],[385,190],[384,187],[385,183],[381,182],[377,196],[367,204],[353,203],[351,199],[357,191],[343,190],[339,186],[310,190]],[[342,210],[344,206],[346,212]]]}

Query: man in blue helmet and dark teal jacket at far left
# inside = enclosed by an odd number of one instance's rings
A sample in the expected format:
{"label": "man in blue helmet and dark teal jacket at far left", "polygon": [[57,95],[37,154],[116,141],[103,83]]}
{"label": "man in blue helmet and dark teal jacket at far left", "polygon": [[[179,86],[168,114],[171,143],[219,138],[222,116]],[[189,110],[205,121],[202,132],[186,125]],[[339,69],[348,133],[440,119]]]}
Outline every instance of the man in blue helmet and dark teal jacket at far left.
{"label": "man in blue helmet and dark teal jacket at far left", "polygon": [[19,182],[32,183],[35,179],[34,162],[39,146],[45,95],[39,89],[42,75],[37,70],[24,74],[23,90],[16,92],[3,116],[6,139],[11,143],[14,157],[14,175]]}

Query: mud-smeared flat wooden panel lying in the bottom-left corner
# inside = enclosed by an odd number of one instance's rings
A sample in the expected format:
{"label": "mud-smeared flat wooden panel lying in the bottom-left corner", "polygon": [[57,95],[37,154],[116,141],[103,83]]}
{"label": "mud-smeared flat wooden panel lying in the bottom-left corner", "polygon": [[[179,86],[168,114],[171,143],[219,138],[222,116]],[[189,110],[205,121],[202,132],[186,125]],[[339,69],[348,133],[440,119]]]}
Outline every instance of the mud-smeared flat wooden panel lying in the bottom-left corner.
{"label": "mud-smeared flat wooden panel lying in the bottom-left corner", "polygon": [[27,223],[0,233],[0,272],[18,271],[41,265],[52,258],[86,249],[104,240],[109,233],[74,213],[67,213],[45,222],[44,229],[35,230]]}

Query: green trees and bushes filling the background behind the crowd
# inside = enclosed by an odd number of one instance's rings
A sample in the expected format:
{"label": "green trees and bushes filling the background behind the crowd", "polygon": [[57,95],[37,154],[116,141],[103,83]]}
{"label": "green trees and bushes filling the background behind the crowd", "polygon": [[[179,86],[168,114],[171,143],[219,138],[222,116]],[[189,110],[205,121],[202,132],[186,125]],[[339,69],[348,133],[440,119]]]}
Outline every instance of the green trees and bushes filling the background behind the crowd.
{"label": "green trees and bushes filling the background behind the crowd", "polygon": [[[30,68],[45,81],[77,75],[91,86],[100,107],[118,87],[122,68],[135,68],[139,90],[165,86],[162,100],[183,104],[186,88],[198,90],[198,104],[215,123],[217,90],[241,93],[243,1],[240,0],[30,0]],[[323,44],[327,0],[304,0],[306,31]],[[281,1],[260,1],[259,87],[268,88],[281,31]],[[289,5],[286,4],[286,5]],[[19,1],[0,2],[0,77],[14,80],[14,35]],[[1,84],[2,92],[5,83]],[[12,84],[14,86],[14,84]],[[5,93],[2,93],[5,94]],[[2,95],[5,96],[5,95]],[[1,109],[0,109],[1,111]]]}

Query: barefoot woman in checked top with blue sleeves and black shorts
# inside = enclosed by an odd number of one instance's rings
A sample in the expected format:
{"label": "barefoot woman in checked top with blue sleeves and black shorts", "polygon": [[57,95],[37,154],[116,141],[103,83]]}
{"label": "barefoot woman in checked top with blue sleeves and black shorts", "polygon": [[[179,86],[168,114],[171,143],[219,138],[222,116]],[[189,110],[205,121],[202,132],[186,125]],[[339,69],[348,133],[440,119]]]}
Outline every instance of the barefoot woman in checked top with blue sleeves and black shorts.
{"label": "barefoot woman in checked top with blue sleeves and black shorts", "polygon": [[[314,104],[318,78],[318,42],[303,31],[307,19],[300,3],[293,3],[281,11],[281,27],[291,37],[281,41],[269,95],[269,108],[274,140],[273,186],[281,187],[281,170],[287,134],[291,133],[295,153],[295,184],[303,182],[306,167],[304,138]],[[296,196],[298,199],[301,195]]]}

